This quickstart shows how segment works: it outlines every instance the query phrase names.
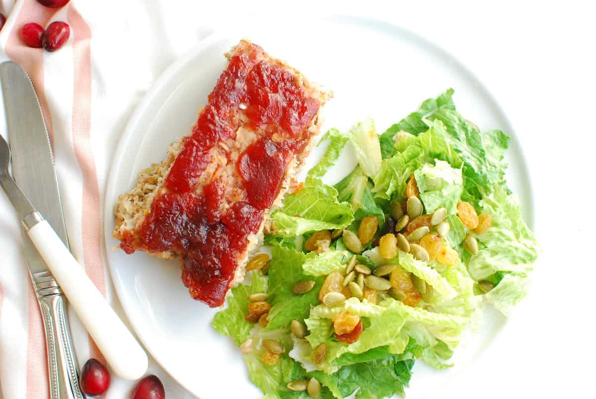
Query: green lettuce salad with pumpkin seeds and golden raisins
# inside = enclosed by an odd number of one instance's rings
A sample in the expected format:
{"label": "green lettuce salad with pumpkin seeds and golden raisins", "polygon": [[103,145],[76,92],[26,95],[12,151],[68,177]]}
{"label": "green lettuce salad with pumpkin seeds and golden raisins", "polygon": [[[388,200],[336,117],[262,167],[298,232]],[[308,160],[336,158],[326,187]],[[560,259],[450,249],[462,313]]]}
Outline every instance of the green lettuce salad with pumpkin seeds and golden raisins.
{"label": "green lettuce salad with pumpkin seeds and golden raisins", "polygon": [[[507,315],[526,295],[538,245],[505,181],[509,137],[480,132],[452,94],[380,135],[370,119],[330,129],[273,212],[271,256],[213,320],[265,398],[403,396],[415,361],[452,366],[483,301]],[[348,143],[358,165],[322,183]]]}

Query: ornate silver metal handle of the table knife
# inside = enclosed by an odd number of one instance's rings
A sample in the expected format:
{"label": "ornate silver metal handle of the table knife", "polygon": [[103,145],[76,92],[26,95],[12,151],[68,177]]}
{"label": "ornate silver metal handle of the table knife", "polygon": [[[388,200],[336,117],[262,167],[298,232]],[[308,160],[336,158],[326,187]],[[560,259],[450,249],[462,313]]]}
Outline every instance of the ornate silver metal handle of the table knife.
{"label": "ornate silver metal handle of the table knife", "polygon": [[49,273],[32,274],[31,279],[44,320],[50,398],[85,399],[79,386],[79,365],[70,338],[66,299]]}

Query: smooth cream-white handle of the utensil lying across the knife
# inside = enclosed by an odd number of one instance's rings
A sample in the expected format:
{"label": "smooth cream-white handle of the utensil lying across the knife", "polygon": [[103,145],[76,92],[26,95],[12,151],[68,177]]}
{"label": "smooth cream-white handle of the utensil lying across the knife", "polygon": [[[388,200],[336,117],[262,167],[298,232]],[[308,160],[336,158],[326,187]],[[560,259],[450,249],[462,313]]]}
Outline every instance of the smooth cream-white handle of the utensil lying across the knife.
{"label": "smooth cream-white handle of the utensil lying across the knife", "polygon": [[147,371],[147,354],[38,212],[23,224],[83,326],[116,375],[133,381]]}

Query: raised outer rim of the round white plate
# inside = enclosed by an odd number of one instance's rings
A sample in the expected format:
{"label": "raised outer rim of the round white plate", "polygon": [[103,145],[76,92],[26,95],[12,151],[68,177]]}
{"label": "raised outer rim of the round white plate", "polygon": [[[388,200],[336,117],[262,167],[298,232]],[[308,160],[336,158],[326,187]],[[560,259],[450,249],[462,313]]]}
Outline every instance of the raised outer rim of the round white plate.
{"label": "raised outer rim of the round white plate", "polygon": [[[449,52],[445,48],[441,47],[436,42],[434,42],[430,39],[427,39],[426,36],[424,36],[422,32],[406,29],[406,28],[399,26],[399,24],[392,23],[392,22],[389,22],[386,20],[372,18],[372,17],[360,17],[360,16],[353,16],[353,15],[347,15],[347,14],[334,14],[334,15],[330,15],[330,16],[320,17],[318,19],[319,19],[319,21],[322,21],[325,23],[331,22],[331,23],[340,23],[340,24],[344,24],[347,26],[356,26],[361,29],[372,30],[374,32],[383,33],[385,35],[387,35],[387,32],[390,32],[390,36],[406,35],[409,38],[415,39],[415,41],[417,41],[420,44],[423,44],[427,48],[430,48],[433,52],[435,52],[436,54],[439,54],[441,57],[450,60],[450,63],[452,65],[457,66],[458,70],[460,70],[471,81],[474,81],[476,88],[480,91],[480,93],[483,95],[483,97],[490,100],[491,109],[495,110],[495,112],[498,113],[499,117],[507,123],[507,126],[504,126],[504,128],[508,128],[508,135],[511,135],[511,137],[515,141],[517,141],[517,143],[520,143],[520,140],[518,138],[519,135],[517,135],[516,129],[514,129],[513,123],[511,123],[511,119],[507,116],[507,113],[505,113],[503,107],[496,100],[496,98],[492,94],[492,92],[489,91],[488,86],[486,86],[485,83],[483,83],[483,81],[481,79],[479,79],[477,77],[477,75],[471,69],[469,69],[464,63],[462,63],[462,61],[460,61],[459,58],[455,57],[451,52]],[[104,259],[105,259],[107,268],[110,273],[110,277],[111,277],[111,280],[112,280],[112,283],[114,286],[114,291],[115,291],[116,296],[120,302],[120,306],[122,307],[123,313],[125,314],[127,320],[131,324],[134,334],[141,341],[144,349],[151,354],[151,357],[153,357],[153,359],[156,361],[156,363],[159,364],[159,366],[162,367],[162,369],[174,381],[179,383],[179,385],[182,386],[184,389],[186,389],[188,392],[190,392],[191,394],[195,394],[195,395],[198,395],[198,392],[192,391],[190,386],[185,385],[185,383],[183,383],[181,381],[181,379],[179,379],[178,376],[176,376],[176,374],[172,372],[173,370],[170,367],[167,367],[166,364],[164,364],[162,361],[160,361],[160,359],[158,357],[156,357],[155,352],[147,344],[145,344],[145,342],[147,342],[147,336],[145,335],[144,332],[142,332],[143,329],[139,328],[139,327],[141,327],[140,326],[141,323],[139,323],[139,321],[137,320],[137,317],[134,316],[135,313],[132,311],[132,307],[134,307],[134,305],[129,304],[128,302],[122,300],[123,298],[125,298],[125,295],[123,295],[123,294],[121,295],[121,290],[122,290],[122,292],[124,292],[127,289],[127,287],[125,286],[123,281],[120,279],[119,274],[117,273],[117,270],[116,270],[117,269],[116,265],[112,265],[112,262],[110,262],[110,256],[107,255],[112,250],[112,248],[108,247],[108,242],[112,239],[112,237],[111,237],[112,227],[111,226],[113,225],[113,222],[114,222],[113,200],[117,199],[117,197],[119,195],[119,193],[116,193],[116,182],[117,182],[117,180],[119,180],[119,175],[120,175],[119,166],[121,165],[122,160],[126,155],[126,151],[125,151],[125,148],[127,148],[126,144],[132,138],[132,134],[135,130],[135,126],[141,122],[142,116],[144,115],[147,107],[150,106],[150,104],[153,101],[152,100],[153,97],[156,94],[159,94],[159,92],[162,90],[163,86],[165,86],[169,82],[169,80],[172,79],[172,77],[175,76],[176,73],[178,73],[178,71],[180,69],[184,68],[186,66],[186,64],[197,55],[197,53],[200,53],[201,51],[205,50],[210,45],[214,44],[215,42],[217,42],[219,40],[229,38],[229,36],[231,36],[231,35],[236,35],[240,38],[243,38],[244,36],[242,34],[239,35],[240,31],[243,28],[244,28],[244,26],[239,26],[235,29],[218,29],[215,32],[210,33],[208,36],[206,36],[205,38],[198,41],[197,44],[195,44],[193,47],[188,49],[179,58],[177,58],[172,63],[170,63],[169,66],[167,66],[166,69],[164,69],[163,72],[160,73],[160,75],[156,79],[156,81],[154,81],[151,84],[150,88],[142,96],[142,100],[139,101],[138,104],[136,104],[134,111],[132,112],[131,116],[128,119],[128,122],[126,122],[125,128],[122,130],[120,138],[119,138],[119,140],[117,140],[116,151],[114,151],[114,156],[112,157],[112,159],[110,161],[110,167],[108,168],[107,180],[105,181],[105,194],[104,194],[104,207],[103,207],[103,211],[104,211],[104,218],[103,218],[104,236],[103,237],[104,237],[104,251],[105,251]],[[249,29],[247,29],[247,31],[252,32],[253,29],[249,28]],[[526,216],[524,218],[524,221],[530,227],[530,229],[532,229],[532,231],[535,231],[535,195],[532,190],[532,178],[530,177],[530,169],[528,166],[529,163],[527,162],[527,156],[526,156],[525,151],[522,146],[517,146],[516,152],[518,153],[518,158],[520,161],[520,166],[521,166],[520,169],[523,171],[522,179],[524,180],[525,183],[527,183],[528,188],[529,188],[525,193],[525,196],[527,197],[527,202],[529,203],[529,209],[524,209],[524,211],[525,211],[524,213]],[[108,226],[110,226],[110,227],[108,227]],[[505,318],[502,328],[504,328],[507,324],[509,324],[509,320],[510,320],[510,318]],[[497,335],[495,336],[495,339],[497,338],[498,334],[499,333],[497,333]],[[486,352],[489,349],[491,349],[491,347],[493,347],[493,345],[489,345],[488,348],[484,348],[482,350],[482,352],[486,354]]]}

